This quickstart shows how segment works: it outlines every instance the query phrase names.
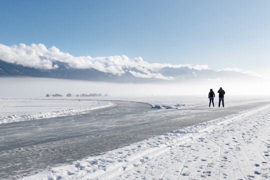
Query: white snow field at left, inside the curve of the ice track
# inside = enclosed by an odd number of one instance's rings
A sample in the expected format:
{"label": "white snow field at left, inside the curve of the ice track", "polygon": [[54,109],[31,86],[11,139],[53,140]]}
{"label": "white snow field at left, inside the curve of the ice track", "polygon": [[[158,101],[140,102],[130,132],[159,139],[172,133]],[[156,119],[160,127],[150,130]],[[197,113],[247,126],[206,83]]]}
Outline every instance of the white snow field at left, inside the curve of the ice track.
{"label": "white snow field at left, inside the curve of the ice track", "polygon": [[1,98],[0,124],[87,113],[114,104],[107,101],[68,98]]}

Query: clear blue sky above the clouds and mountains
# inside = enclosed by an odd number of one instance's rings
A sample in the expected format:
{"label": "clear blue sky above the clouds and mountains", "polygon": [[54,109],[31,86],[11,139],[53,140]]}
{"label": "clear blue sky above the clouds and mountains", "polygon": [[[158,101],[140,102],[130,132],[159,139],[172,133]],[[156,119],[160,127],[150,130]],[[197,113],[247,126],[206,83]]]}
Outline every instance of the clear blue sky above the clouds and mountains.
{"label": "clear blue sky above the clouds and mountains", "polygon": [[0,0],[0,43],[270,72],[268,0]]}

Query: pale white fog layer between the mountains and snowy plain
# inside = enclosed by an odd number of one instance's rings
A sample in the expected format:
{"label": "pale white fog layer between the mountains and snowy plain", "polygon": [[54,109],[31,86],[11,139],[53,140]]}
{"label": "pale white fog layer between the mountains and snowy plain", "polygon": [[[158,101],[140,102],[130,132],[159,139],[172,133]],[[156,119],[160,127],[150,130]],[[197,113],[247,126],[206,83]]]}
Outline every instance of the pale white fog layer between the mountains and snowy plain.
{"label": "pale white fog layer between the mountains and snowy plain", "polygon": [[0,77],[1,97],[45,97],[47,93],[109,93],[111,96],[208,95],[222,87],[226,95],[270,96],[269,80],[205,80],[167,83],[110,83],[39,77]]}

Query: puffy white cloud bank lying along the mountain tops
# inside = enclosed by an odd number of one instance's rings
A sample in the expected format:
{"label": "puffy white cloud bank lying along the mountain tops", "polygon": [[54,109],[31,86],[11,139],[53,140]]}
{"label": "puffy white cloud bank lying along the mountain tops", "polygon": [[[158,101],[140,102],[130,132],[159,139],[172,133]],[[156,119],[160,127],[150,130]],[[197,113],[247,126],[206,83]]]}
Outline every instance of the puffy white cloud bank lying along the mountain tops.
{"label": "puffy white cloud bank lying along the mountain tops", "polygon": [[[58,60],[68,64],[68,67],[77,69],[95,68],[103,72],[122,75],[129,71],[134,76],[144,78],[161,78],[173,79],[173,77],[165,77],[160,73],[156,73],[163,67],[189,67],[194,69],[208,69],[208,65],[191,65],[169,63],[148,63],[142,57],[129,58],[126,55],[115,55],[109,57],[91,57],[91,56],[73,56],[67,52],[62,52],[59,48],[52,46],[47,48],[44,44],[19,44],[7,46],[0,44],[0,59],[16,63],[27,67],[39,69],[57,69],[59,68],[54,61]],[[141,72],[127,70],[130,68],[139,69]]]}

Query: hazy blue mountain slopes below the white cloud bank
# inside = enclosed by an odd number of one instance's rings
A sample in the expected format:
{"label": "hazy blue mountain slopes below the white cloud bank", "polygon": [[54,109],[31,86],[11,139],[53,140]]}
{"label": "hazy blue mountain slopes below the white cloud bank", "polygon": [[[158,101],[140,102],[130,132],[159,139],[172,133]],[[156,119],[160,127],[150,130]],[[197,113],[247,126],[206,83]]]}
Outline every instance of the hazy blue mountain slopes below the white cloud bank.
{"label": "hazy blue mountain slopes below the white cloud bank", "polygon": [[34,76],[64,79],[80,79],[112,82],[159,82],[159,81],[190,81],[211,79],[236,79],[250,78],[236,71],[214,71],[210,69],[195,69],[187,66],[163,67],[158,71],[138,65],[137,67],[125,67],[124,73],[114,74],[103,72],[96,68],[73,68],[66,62],[53,61],[57,68],[42,69],[9,63],[0,59],[0,76]]}

